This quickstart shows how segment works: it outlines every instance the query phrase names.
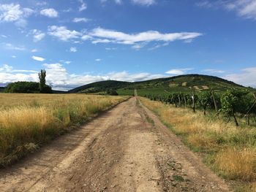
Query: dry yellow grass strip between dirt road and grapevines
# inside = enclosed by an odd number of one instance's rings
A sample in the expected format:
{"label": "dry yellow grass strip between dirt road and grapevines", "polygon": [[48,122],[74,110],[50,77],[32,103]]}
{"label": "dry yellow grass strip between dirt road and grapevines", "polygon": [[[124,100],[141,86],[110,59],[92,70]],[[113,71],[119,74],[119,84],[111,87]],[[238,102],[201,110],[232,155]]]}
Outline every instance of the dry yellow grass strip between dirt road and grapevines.
{"label": "dry yellow grass strip between dirt road and grapevines", "polygon": [[233,123],[193,114],[158,101],[140,98],[165,125],[192,150],[203,154],[205,163],[236,191],[256,191],[256,128],[237,128]]}

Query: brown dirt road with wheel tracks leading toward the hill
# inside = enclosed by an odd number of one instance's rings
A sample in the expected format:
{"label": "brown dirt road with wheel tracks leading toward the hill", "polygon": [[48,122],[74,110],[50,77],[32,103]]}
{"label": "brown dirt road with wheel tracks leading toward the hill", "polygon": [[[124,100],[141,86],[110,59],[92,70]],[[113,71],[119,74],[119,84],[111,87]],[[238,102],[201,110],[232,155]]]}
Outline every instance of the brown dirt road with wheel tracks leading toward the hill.
{"label": "brown dirt road with wheel tracks leading toward the hill", "polygon": [[136,97],[0,172],[0,191],[229,191]]}

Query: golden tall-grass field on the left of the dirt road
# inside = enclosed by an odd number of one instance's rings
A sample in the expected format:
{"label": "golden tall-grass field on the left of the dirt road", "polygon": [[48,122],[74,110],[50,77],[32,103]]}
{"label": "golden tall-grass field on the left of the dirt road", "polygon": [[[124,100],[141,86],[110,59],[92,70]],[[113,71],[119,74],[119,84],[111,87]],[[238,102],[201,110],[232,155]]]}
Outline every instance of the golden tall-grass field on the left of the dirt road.
{"label": "golden tall-grass field on the left of the dirt road", "polygon": [[128,99],[83,94],[0,94],[0,166]]}

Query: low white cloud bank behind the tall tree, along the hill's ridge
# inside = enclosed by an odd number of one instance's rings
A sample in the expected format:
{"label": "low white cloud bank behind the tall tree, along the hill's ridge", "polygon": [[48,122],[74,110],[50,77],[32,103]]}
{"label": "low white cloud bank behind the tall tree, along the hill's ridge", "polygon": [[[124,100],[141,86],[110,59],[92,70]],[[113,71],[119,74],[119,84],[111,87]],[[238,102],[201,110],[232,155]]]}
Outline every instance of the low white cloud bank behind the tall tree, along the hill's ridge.
{"label": "low white cloud bank behind the tall tree, along the hill's ridge", "polygon": [[[140,81],[159,77],[163,74],[150,74],[146,72],[130,74],[129,72],[111,72],[103,75],[69,74],[62,64],[43,64],[46,70],[48,85],[54,89],[69,90],[71,88],[102,80]],[[13,70],[12,66],[0,67],[0,83],[15,82],[18,80],[37,81],[37,72],[33,70]],[[25,73],[26,72],[26,73]]]}

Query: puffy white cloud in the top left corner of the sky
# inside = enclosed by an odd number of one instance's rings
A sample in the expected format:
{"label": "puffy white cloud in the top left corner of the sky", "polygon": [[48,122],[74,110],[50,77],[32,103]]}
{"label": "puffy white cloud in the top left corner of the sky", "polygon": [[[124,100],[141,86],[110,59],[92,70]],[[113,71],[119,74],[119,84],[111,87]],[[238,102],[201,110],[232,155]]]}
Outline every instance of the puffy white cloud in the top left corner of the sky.
{"label": "puffy white cloud in the top left corner of the sky", "polygon": [[18,27],[25,27],[26,18],[34,13],[34,10],[22,8],[20,4],[0,4],[0,22],[15,22]]}

